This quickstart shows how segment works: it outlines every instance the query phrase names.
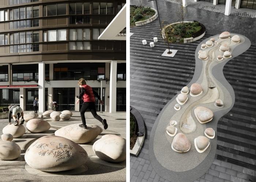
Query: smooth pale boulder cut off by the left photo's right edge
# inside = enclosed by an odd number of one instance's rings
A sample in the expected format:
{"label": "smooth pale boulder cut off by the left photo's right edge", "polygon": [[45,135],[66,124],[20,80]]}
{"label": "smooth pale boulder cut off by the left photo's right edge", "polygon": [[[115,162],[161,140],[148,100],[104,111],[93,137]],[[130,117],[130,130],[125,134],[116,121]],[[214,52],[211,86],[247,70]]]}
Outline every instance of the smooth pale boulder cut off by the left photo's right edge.
{"label": "smooth pale boulder cut off by the left photo's right edge", "polygon": [[117,135],[103,135],[93,144],[94,153],[102,160],[122,162],[126,159],[126,139]]}

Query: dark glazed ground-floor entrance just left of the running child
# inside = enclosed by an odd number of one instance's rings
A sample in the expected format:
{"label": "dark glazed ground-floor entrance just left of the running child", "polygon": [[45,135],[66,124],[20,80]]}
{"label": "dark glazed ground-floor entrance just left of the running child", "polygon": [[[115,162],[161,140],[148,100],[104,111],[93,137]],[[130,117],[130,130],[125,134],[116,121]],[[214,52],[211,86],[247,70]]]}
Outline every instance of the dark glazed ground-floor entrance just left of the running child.
{"label": "dark glazed ground-floor entrance just left of the running child", "polygon": [[75,110],[75,88],[53,88],[53,95],[58,104],[56,111]]}

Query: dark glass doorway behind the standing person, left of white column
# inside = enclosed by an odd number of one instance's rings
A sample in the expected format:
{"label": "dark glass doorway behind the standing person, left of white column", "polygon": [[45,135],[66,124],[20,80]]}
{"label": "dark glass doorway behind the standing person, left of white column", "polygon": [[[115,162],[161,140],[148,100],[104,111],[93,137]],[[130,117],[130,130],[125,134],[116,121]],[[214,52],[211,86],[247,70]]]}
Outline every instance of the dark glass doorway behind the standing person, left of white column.
{"label": "dark glass doorway behind the standing person, left of white column", "polygon": [[[34,111],[34,100],[38,98],[38,88],[26,88],[26,111]],[[38,98],[38,102],[44,102]]]}

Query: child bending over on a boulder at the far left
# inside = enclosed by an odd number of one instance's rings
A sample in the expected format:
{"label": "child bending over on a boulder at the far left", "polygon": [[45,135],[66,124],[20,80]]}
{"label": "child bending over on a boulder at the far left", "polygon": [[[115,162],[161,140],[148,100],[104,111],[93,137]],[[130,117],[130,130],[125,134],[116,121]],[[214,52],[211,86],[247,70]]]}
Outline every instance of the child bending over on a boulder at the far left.
{"label": "child bending over on a boulder at the far left", "polygon": [[23,124],[25,122],[23,116],[23,110],[21,107],[17,106],[17,105],[10,105],[8,106],[9,108],[9,124],[11,124],[11,118],[13,118],[15,120],[14,126],[19,124],[19,118],[21,116],[21,122],[20,124]]}

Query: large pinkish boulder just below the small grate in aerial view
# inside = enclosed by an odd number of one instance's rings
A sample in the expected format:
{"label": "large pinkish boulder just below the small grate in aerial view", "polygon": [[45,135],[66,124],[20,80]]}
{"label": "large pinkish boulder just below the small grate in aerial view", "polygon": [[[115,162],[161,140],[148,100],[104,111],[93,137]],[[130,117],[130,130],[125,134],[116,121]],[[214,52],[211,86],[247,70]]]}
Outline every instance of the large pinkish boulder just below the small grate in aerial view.
{"label": "large pinkish boulder just below the small grate in aerial view", "polygon": [[172,142],[172,149],[176,152],[187,152],[189,151],[191,147],[191,144],[183,133],[178,133],[174,138]]}

